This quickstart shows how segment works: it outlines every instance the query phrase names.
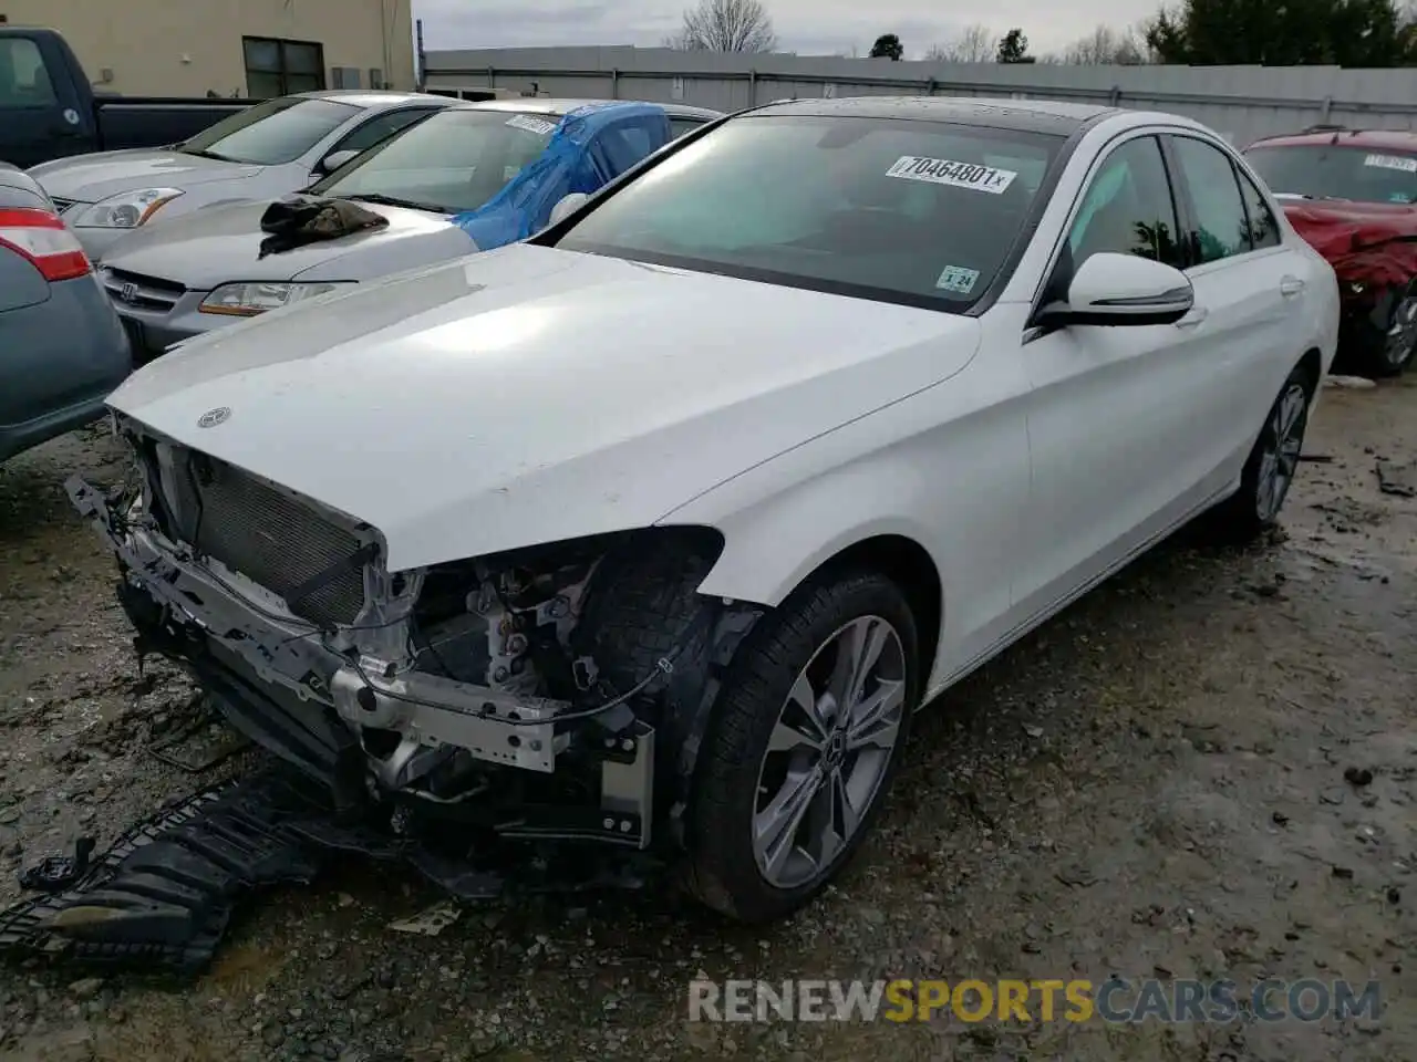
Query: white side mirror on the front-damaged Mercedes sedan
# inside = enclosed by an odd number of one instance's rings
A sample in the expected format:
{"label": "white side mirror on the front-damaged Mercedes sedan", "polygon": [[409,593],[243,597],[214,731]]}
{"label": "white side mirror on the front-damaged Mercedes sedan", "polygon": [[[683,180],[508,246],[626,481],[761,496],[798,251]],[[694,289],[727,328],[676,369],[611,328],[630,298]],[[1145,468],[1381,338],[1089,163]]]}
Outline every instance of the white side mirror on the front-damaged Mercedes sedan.
{"label": "white side mirror on the front-damaged Mercedes sedan", "polygon": [[1066,303],[1039,310],[1034,324],[1175,324],[1196,304],[1196,292],[1179,269],[1136,255],[1101,252],[1073,276]]}

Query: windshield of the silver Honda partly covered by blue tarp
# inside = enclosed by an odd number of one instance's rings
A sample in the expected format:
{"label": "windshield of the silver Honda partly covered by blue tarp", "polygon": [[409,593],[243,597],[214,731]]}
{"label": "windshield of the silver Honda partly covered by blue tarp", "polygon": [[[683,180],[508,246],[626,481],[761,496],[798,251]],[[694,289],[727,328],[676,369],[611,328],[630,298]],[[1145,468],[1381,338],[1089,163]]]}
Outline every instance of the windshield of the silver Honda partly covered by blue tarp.
{"label": "windshield of the silver Honda partly covered by blue tarp", "polygon": [[310,188],[461,214],[502,191],[551,142],[557,115],[441,110]]}

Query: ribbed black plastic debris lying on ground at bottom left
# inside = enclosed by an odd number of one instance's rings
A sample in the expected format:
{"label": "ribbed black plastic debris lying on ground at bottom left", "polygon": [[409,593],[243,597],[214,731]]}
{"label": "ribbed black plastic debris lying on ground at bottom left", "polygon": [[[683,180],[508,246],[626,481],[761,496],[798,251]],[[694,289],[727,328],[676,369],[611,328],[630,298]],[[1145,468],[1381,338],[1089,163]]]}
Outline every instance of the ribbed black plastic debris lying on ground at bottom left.
{"label": "ribbed black plastic debris lying on ground at bottom left", "polygon": [[288,826],[322,811],[275,773],[190,796],[125,833],[68,888],[0,912],[0,952],[194,973],[241,893],[315,878],[316,857]]}

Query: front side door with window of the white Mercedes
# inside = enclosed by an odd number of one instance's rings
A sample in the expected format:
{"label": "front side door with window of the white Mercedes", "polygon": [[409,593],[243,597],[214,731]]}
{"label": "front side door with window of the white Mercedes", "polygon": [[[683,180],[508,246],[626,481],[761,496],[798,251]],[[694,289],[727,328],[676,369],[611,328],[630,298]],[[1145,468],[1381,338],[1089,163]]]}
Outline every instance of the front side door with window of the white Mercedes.
{"label": "front side door with window of the white Mercedes", "polygon": [[[1040,303],[1066,299],[1094,253],[1189,265],[1173,174],[1156,130],[1114,140],[1093,163]],[[1033,486],[1015,615],[1049,609],[1125,561],[1206,494],[1220,429],[1216,333],[1204,307],[1179,324],[1070,326],[1024,334]],[[1219,354],[1223,357],[1223,353]]]}

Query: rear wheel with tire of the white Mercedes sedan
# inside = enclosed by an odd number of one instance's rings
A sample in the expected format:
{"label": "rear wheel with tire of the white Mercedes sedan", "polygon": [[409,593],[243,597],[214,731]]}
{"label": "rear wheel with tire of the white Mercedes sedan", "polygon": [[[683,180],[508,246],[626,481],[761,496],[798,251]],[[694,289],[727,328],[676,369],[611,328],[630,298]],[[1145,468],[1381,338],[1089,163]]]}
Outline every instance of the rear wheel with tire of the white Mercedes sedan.
{"label": "rear wheel with tire of the white Mercedes sedan", "polygon": [[1278,523],[1299,467],[1316,385],[1306,365],[1297,365],[1284,381],[1246,459],[1240,489],[1210,514],[1221,541],[1244,544]]}

